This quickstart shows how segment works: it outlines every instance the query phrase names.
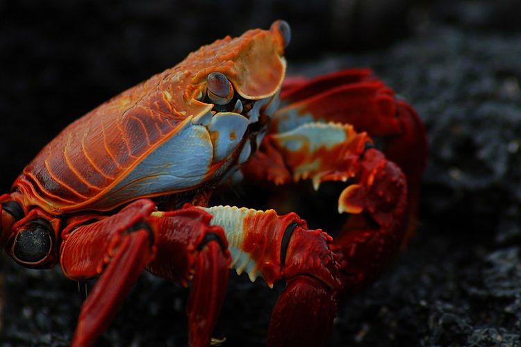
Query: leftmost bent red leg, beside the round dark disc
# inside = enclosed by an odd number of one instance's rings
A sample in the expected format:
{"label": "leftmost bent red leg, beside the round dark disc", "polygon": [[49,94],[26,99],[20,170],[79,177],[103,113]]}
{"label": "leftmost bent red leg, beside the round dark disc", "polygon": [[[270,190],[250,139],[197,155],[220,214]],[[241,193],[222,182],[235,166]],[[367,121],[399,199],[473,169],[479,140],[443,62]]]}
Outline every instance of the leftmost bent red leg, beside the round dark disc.
{"label": "leftmost bent red leg, beside the round dark disc", "polygon": [[81,307],[72,346],[94,344],[154,257],[154,232],[142,222],[153,209],[151,201],[136,201],[111,217],[84,225],[78,219],[65,230],[60,251],[65,275],[73,280],[101,275]]}

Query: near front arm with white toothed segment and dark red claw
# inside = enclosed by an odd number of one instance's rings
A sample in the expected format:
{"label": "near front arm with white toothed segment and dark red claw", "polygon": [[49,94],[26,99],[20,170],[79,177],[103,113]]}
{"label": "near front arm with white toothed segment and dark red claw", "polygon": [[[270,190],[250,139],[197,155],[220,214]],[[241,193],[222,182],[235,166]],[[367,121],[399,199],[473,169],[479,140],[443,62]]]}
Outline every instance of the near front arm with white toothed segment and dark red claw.
{"label": "near front arm with white toothed segment and dark red claw", "polygon": [[238,273],[267,285],[286,280],[270,319],[268,346],[322,346],[336,316],[338,264],[331,237],[308,230],[297,214],[217,206],[205,208],[222,226]]}

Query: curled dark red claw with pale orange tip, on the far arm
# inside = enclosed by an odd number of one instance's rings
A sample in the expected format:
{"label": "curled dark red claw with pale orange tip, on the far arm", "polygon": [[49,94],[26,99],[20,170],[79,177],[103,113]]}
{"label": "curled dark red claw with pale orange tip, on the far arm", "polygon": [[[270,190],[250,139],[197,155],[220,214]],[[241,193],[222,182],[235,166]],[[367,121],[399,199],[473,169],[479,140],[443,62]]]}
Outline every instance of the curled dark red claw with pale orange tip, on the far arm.
{"label": "curled dark red claw with pale orange tip, on the far arm", "polygon": [[339,198],[351,213],[331,244],[342,269],[345,294],[354,294],[380,276],[404,239],[408,214],[407,183],[399,167],[376,149],[367,149],[358,182]]}

